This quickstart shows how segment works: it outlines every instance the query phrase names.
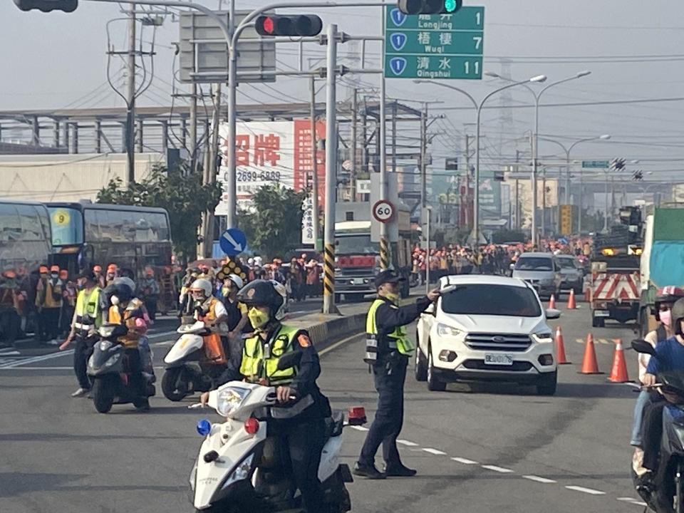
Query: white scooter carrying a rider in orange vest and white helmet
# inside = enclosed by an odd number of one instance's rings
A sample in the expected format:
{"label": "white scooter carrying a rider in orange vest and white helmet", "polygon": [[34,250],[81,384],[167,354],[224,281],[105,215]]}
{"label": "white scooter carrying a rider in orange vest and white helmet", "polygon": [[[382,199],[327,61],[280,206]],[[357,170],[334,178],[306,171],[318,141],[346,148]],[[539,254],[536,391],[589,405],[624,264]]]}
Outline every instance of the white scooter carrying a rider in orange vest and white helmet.
{"label": "white scooter carrying a rider in orange vest and white helmet", "polygon": [[166,370],[162,378],[162,392],[165,398],[172,401],[211,390],[214,380],[226,368],[225,363],[212,362],[206,358],[204,336],[210,332],[202,321],[184,318],[176,331],[181,336],[164,357]]}

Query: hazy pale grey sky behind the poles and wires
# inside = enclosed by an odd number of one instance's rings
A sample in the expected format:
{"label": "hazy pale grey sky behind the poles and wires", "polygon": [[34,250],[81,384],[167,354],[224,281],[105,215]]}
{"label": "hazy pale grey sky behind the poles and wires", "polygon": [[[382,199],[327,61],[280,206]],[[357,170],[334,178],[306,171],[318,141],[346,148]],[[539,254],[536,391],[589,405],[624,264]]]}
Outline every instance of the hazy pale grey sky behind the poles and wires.
{"label": "hazy pale grey sky behind the poles and wires", "polygon": [[[261,0],[237,0],[238,9],[265,4]],[[218,1],[205,0],[218,8]],[[342,3],[342,2],[341,2]],[[512,78],[523,80],[545,74],[549,81],[589,70],[591,75],[550,88],[541,100],[540,133],[564,145],[581,138],[609,134],[611,140],[584,142],[575,147],[573,160],[624,157],[639,160],[632,170],[646,173],[647,181],[684,182],[684,3],[671,0],[465,0],[485,6],[484,70],[502,73],[508,62]],[[225,7],[225,2],[223,3]],[[288,10],[289,11],[289,10]],[[294,10],[293,10],[294,11]],[[311,8],[323,24],[334,22],[352,35],[380,35],[380,8]],[[120,18],[117,4],[83,1],[74,13],[39,11],[24,13],[13,2],[0,4],[0,109],[65,108],[123,105],[106,83],[108,21]],[[123,49],[126,22],[111,21],[110,44]],[[144,35],[151,40],[150,29]],[[156,34],[155,78],[139,105],[169,105],[174,83],[174,48],[178,24],[167,16]],[[149,47],[148,47],[149,48]],[[305,45],[305,58],[320,58],[325,47]],[[355,48],[345,43],[341,55]],[[356,48],[358,50],[358,48]],[[279,68],[296,66],[296,44],[278,47]],[[368,43],[371,66],[378,66],[379,43]],[[110,66],[120,83],[120,61]],[[378,90],[376,75],[346,76],[343,85]],[[482,81],[447,81],[464,88],[477,100],[504,85],[496,78]],[[176,83],[177,92],[187,89]],[[542,86],[533,85],[535,90]],[[435,162],[460,155],[465,133],[475,132],[475,110],[467,98],[437,86],[416,86],[405,79],[387,81],[388,95],[405,100],[436,101],[430,104],[435,138],[430,152]],[[512,161],[516,150],[529,149],[526,133],[534,128],[534,98],[522,88],[509,95],[495,95],[482,115],[482,155],[492,164]],[[345,99],[348,89],[338,94]],[[306,78],[278,78],[276,84],[244,84],[239,103],[308,100]],[[319,100],[323,100],[321,93]],[[680,100],[670,101],[670,98]],[[622,103],[630,100],[653,100]],[[602,104],[610,102],[608,104]],[[616,103],[617,102],[617,103]],[[556,105],[545,103],[586,103]],[[415,137],[415,128],[403,128],[404,143]],[[401,141],[400,141],[401,142]],[[557,162],[564,152],[559,145],[540,142],[542,160]],[[651,173],[651,174],[649,174]]]}

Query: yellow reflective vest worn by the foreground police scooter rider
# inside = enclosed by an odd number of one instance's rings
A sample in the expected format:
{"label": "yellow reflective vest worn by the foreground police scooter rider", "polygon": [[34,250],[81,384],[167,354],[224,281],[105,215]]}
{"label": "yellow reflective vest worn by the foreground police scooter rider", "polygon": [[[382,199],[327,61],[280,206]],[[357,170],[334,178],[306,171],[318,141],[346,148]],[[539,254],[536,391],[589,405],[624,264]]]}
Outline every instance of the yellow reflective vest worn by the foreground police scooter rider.
{"label": "yellow reflective vest worn by the foreground police scooter rider", "polygon": [[297,370],[294,367],[278,370],[278,358],[294,351],[294,336],[299,328],[280,326],[278,332],[264,341],[259,334],[245,339],[242,349],[240,373],[252,383],[265,379],[269,385],[287,385],[294,380]]}

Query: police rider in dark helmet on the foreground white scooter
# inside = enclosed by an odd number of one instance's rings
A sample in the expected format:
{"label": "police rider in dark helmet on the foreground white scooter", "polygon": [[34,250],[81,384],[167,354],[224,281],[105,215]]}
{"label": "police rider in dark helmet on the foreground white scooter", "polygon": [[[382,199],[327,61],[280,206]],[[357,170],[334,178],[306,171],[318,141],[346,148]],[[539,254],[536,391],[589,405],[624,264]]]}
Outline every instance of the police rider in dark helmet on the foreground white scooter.
{"label": "police rider in dark helmet on the foreground white scooter", "polygon": [[[244,341],[242,361],[230,361],[218,382],[244,379],[276,387],[278,401],[284,407],[271,410],[274,432],[289,450],[294,482],[304,508],[309,513],[318,513],[323,511],[318,465],[325,445],[325,419],[331,415],[331,409],[328,398],[316,384],[321,365],[309,333],[281,323],[285,296],[284,286],[271,280],[252,281],[239,291],[237,299],[249,308],[254,336]],[[291,351],[301,351],[299,363],[278,370],[278,359]],[[202,403],[208,400],[209,393],[202,394]]]}

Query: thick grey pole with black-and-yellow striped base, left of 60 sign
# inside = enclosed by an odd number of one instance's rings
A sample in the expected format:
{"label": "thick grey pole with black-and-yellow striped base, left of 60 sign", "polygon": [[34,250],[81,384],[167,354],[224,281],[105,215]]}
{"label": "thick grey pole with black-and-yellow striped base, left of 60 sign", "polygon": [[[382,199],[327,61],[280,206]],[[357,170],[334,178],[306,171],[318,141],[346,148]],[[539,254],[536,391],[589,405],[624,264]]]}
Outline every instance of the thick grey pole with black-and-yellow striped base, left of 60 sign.
{"label": "thick grey pole with black-and-yellow striped base, left of 60 sign", "polygon": [[328,25],[326,62],[326,215],[323,259],[323,314],[335,314],[335,203],[337,190],[337,25]]}

